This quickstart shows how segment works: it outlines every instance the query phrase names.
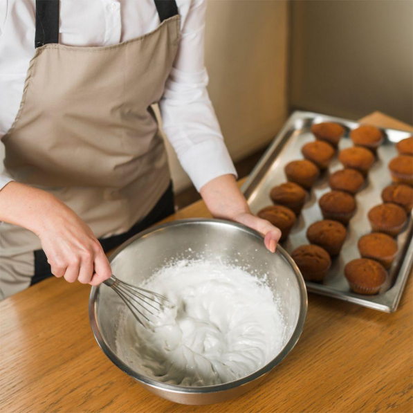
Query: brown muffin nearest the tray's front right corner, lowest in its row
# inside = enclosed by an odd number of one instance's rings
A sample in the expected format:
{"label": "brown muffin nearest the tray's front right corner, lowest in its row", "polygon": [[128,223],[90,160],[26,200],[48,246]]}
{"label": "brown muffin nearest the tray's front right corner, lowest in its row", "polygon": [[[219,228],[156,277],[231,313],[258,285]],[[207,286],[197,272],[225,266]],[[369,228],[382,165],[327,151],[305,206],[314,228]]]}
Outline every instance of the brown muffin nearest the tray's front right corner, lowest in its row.
{"label": "brown muffin nearest the tray's front right corner, lowest in its row", "polygon": [[387,273],[377,261],[358,258],[345,265],[345,277],[354,293],[373,295],[385,283]]}

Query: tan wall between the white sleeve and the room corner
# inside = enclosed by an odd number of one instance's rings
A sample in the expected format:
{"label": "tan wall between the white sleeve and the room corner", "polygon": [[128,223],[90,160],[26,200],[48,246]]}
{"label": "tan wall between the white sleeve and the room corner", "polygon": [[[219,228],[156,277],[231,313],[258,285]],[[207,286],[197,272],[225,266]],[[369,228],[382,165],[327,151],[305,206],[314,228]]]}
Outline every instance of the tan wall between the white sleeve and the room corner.
{"label": "tan wall between the white sleeve and the room corner", "polygon": [[[208,91],[233,159],[271,140],[286,119],[288,2],[208,0]],[[190,184],[168,148],[175,189]]]}

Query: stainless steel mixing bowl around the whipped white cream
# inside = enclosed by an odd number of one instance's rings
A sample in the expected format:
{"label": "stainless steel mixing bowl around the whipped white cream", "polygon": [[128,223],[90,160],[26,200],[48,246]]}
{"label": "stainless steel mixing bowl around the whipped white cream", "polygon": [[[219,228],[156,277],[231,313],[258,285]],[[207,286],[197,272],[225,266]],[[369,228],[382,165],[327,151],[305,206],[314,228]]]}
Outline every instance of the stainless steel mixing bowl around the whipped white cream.
{"label": "stainless steel mixing bowl around the whipped white cream", "polygon": [[116,348],[116,331],[125,304],[111,288],[93,287],[89,319],[104,354],[117,367],[138,380],[149,392],[176,403],[219,403],[255,387],[291,351],[297,342],[307,311],[306,287],[300,271],[282,247],[275,254],[263,239],[245,226],[217,219],[185,219],[150,228],[120,246],[110,257],[113,274],[139,284],[176,259],[205,258],[250,268],[257,277],[267,275],[286,322],[284,347],[267,365],[239,380],[205,387],[169,385],[143,376],[122,359]]}

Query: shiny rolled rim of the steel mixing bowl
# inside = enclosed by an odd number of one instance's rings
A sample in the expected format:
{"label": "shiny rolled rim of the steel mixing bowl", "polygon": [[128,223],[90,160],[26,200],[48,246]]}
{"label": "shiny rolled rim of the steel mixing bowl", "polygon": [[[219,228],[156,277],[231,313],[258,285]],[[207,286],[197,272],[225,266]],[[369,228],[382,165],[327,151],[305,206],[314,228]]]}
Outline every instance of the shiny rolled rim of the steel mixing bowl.
{"label": "shiny rolled rim of the steel mixing bowl", "polygon": [[[160,223],[157,226],[152,226],[150,228],[147,228],[147,230],[143,230],[142,232],[139,232],[137,235],[134,237],[131,237],[125,243],[121,244],[116,250],[110,255],[109,257],[109,262],[113,261],[119,253],[122,252],[129,244],[132,242],[136,241],[136,239],[140,239],[143,237],[146,237],[153,232],[157,232],[159,230],[163,230],[164,228],[168,228],[171,226],[180,226],[180,225],[186,225],[186,224],[194,224],[194,223],[209,223],[209,224],[220,224],[220,225],[225,225],[225,226],[233,226],[235,228],[238,228],[239,230],[243,230],[244,232],[248,232],[250,235],[253,235],[254,237],[257,237],[259,239],[264,240],[264,237],[262,237],[259,232],[248,228],[247,226],[244,226],[243,224],[240,223],[235,223],[232,221],[226,221],[223,219],[213,219],[213,218],[187,218],[187,219],[178,219],[176,221],[169,221],[166,223]],[[308,297],[306,293],[306,285],[304,283],[304,279],[300,273],[300,270],[298,269],[297,265],[293,261],[293,259],[288,255],[286,250],[282,248],[282,246],[277,245],[277,250],[275,251],[275,254],[280,254],[286,261],[288,261],[288,264],[291,265],[293,268],[293,272],[295,274],[295,277],[297,278],[299,290],[300,290],[300,311],[298,313],[298,320],[297,324],[295,325],[295,329],[293,331],[293,334],[291,335],[291,338],[286,342],[284,345],[282,351],[273,358],[273,360],[270,360],[266,365],[261,367],[261,369],[258,369],[254,373],[249,374],[248,376],[245,376],[243,378],[239,378],[238,380],[231,381],[229,383],[223,383],[219,385],[210,385],[210,386],[199,386],[199,387],[192,387],[192,386],[181,386],[181,385],[171,385],[167,383],[163,383],[158,380],[154,380],[153,378],[149,378],[147,376],[144,376],[143,374],[139,374],[133,369],[131,369],[128,365],[125,364],[118,356],[116,356],[115,353],[111,350],[109,345],[107,345],[107,342],[104,340],[102,333],[100,332],[100,327],[98,324],[98,318],[97,318],[97,311],[96,311],[96,298],[98,296],[98,291],[100,286],[93,286],[91,288],[91,293],[89,295],[89,322],[91,324],[91,329],[93,332],[93,336],[95,336],[96,342],[98,342],[98,345],[100,349],[102,349],[103,353],[113,362],[116,367],[124,371],[126,374],[129,376],[135,378],[141,383],[144,383],[145,385],[149,385],[150,387],[154,387],[156,389],[163,389],[167,392],[173,392],[173,393],[181,393],[181,394],[208,394],[208,393],[215,393],[215,392],[224,392],[229,389],[233,389],[235,387],[241,387],[243,385],[246,385],[253,380],[256,380],[257,378],[264,376],[265,374],[268,374],[270,370],[272,370],[276,365],[281,362],[286,355],[293,349],[293,347],[296,345],[298,339],[301,336],[302,330],[304,328],[304,322],[306,320],[306,313],[307,313],[307,308],[308,308]]]}

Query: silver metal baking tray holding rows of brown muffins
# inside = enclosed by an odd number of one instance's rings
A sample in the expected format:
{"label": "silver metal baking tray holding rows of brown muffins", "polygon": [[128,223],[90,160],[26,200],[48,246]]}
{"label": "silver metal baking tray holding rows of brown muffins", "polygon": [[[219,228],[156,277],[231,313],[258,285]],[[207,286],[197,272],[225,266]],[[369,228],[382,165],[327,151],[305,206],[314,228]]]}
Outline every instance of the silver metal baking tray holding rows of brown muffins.
{"label": "silver metal baking tray holding rows of brown muffins", "polygon": [[[284,166],[288,162],[303,159],[302,145],[315,139],[310,128],[313,123],[319,122],[337,122],[345,127],[346,133],[340,140],[339,150],[352,146],[349,131],[360,125],[351,120],[319,113],[294,112],[241,188],[253,213],[256,214],[261,208],[272,205],[269,196],[271,188],[286,182]],[[407,277],[412,270],[412,214],[410,214],[403,232],[396,238],[398,253],[392,267],[387,270],[387,281],[377,295],[359,295],[351,292],[344,276],[345,264],[351,259],[360,258],[357,248],[358,239],[371,232],[367,212],[374,205],[383,202],[380,196],[381,192],[384,187],[392,183],[387,164],[397,155],[394,144],[412,135],[410,132],[395,129],[381,128],[381,130],[385,134],[385,140],[383,145],[378,148],[378,159],[371,167],[364,186],[356,194],[356,213],[347,227],[347,238],[341,253],[332,260],[331,268],[324,282],[321,284],[306,282],[306,286],[311,293],[327,295],[371,309],[392,313],[397,309]],[[306,230],[311,223],[323,219],[318,200],[322,194],[331,190],[328,185],[329,174],[338,169],[342,169],[342,165],[336,156],[329,169],[320,176],[309,192],[300,217],[291,230],[290,236],[282,244],[288,253],[291,253],[297,246],[309,244],[308,239],[306,239]]]}

